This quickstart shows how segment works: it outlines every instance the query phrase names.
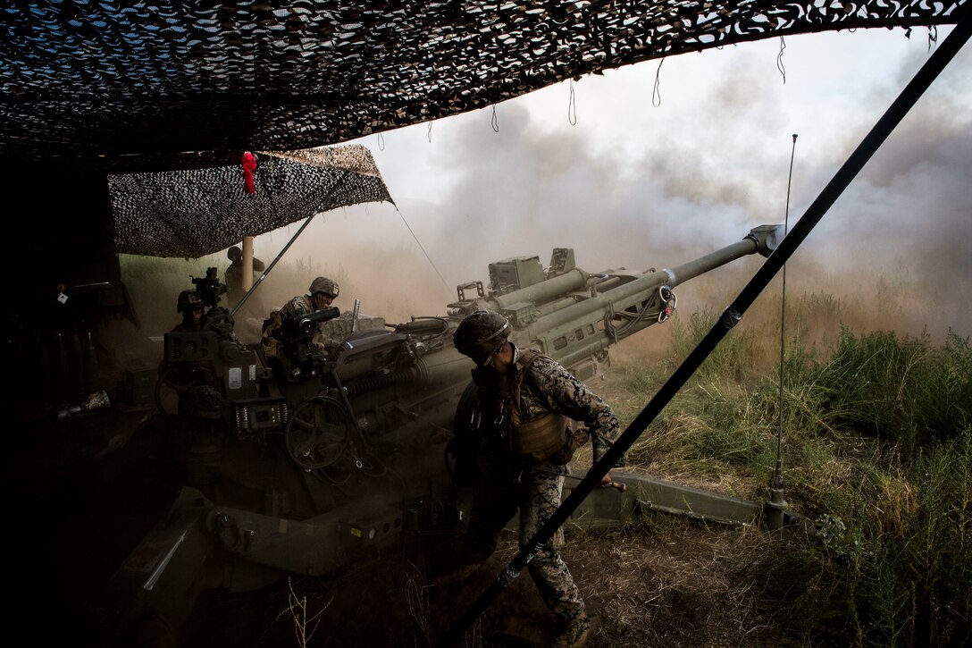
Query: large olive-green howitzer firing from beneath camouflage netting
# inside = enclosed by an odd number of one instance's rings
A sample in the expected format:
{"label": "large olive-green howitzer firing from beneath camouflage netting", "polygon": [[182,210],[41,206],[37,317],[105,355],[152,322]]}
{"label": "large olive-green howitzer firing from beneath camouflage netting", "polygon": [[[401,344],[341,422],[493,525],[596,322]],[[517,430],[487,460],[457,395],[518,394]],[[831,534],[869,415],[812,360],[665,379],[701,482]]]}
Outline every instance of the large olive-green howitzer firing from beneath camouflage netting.
{"label": "large olive-green howitzer firing from beneath camouflage netting", "polygon": [[[207,393],[218,394],[219,415],[163,411],[188,457],[188,482],[171,522],[96,599],[99,618],[113,622],[106,643],[139,618],[121,614],[122,602],[136,601],[140,613],[151,605],[178,626],[185,606],[173,603],[176,592],[325,576],[459,529],[469,493],[453,480],[447,448],[468,420],[473,365],[452,333],[469,312],[502,312],[513,342],[585,379],[608,364],[611,345],[671,315],[677,285],[749,254],[768,255],[781,234],[781,227],[756,228],[700,259],[640,273],[580,270],[567,248],[555,249],[546,269],[537,257],[507,259],[490,265],[489,292],[481,282],[462,284],[446,315],[396,325],[361,317],[357,306],[350,322],[336,308],[320,311],[287,324],[283,338],[306,341],[319,323],[347,335],[329,353],[304,353],[299,371],[286,376],[259,347],[215,334],[167,335],[170,367],[204,377]],[[615,481],[639,486],[627,476]],[[591,526],[629,520],[642,486],[600,491],[578,515]],[[146,556],[153,551],[155,558]],[[125,584],[137,586],[138,596],[120,595]]]}

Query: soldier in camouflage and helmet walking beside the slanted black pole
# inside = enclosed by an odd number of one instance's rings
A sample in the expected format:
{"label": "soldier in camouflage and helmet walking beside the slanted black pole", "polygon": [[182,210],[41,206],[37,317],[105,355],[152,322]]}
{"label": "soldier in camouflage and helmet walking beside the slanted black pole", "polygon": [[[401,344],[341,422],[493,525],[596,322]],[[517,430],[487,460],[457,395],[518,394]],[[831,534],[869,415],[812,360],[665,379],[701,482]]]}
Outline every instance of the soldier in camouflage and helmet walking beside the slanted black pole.
{"label": "soldier in camouflage and helmet walking beside the slanted black pole", "polygon": [[[503,315],[477,310],[464,319],[453,336],[456,347],[475,363],[478,386],[474,439],[478,487],[470,512],[466,554],[469,560],[488,558],[506,522],[520,511],[520,547],[561,504],[564,477],[574,450],[587,439],[594,460],[600,460],[617,439],[617,416],[564,367],[533,349],[509,342],[509,322]],[[572,431],[568,419],[586,430]],[[467,440],[467,449],[469,449]],[[457,455],[457,469],[458,465]],[[603,484],[611,482],[606,475]],[[546,606],[563,631],[554,645],[579,646],[590,621],[571,572],[557,552],[564,530],[530,562],[530,575]]]}

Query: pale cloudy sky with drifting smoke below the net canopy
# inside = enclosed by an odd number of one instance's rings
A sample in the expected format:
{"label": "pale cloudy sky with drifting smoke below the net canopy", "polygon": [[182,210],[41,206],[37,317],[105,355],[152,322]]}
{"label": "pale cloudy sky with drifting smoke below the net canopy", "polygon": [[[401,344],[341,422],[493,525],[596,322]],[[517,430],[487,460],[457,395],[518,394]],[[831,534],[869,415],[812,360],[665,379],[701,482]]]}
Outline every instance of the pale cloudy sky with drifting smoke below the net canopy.
{"label": "pale cloudy sky with drifting smoke below the net canopy", "polygon": [[[545,265],[553,247],[575,248],[584,270],[675,266],[783,223],[791,155],[792,227],[927,60],[928,36],[857,30],[681,54],[364,137],[354,143],[397,206],[318,216],[288,256],[327,249],[372,303],[387,290],[436,305],[458,283],[486,282],[491,262]],[[916,311],[972,334],[970,184],[966,45],[797,251],[787,281],[926,284]],[[260,236],[257,256],[272,258],[296,229]]]}

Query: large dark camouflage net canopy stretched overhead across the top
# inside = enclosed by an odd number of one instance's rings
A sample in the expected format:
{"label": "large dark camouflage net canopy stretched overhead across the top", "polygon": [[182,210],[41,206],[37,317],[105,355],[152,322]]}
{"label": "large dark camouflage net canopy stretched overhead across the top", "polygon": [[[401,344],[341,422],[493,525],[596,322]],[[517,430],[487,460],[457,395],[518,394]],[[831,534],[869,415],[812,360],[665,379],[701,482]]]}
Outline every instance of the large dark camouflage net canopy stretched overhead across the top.
{"label": "large dark camouflage net canopy stretched overhead across the top", "polygon": [[0,156],[117,172],[235,164],[744,41],[894,26],[934,38],[966,2],[12,2]]}

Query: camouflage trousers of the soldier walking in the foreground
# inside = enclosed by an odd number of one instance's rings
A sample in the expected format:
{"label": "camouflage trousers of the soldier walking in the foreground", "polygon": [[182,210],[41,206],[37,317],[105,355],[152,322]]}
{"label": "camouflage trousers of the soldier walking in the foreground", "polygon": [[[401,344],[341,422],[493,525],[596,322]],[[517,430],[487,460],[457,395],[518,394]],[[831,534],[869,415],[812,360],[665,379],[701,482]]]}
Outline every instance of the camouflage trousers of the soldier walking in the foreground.
{"label": "camouflage trousers of the soldier walking in the foreground", "polygon": [[[500,533],[520,511],[519,544],[522,549],[553,512],[560,507],[564,489],[564,467],[542,462],[522,468],[503,465],[496,457],[480,457],[482,471],[469,515],[467,547],[478,558],[488,558]],[[558,528],[529,563],[530,576],[543,602],[559,619],[569,620],[584,611],[584,601],[573,576],[557,548],[564,544],[564,529]]]}

